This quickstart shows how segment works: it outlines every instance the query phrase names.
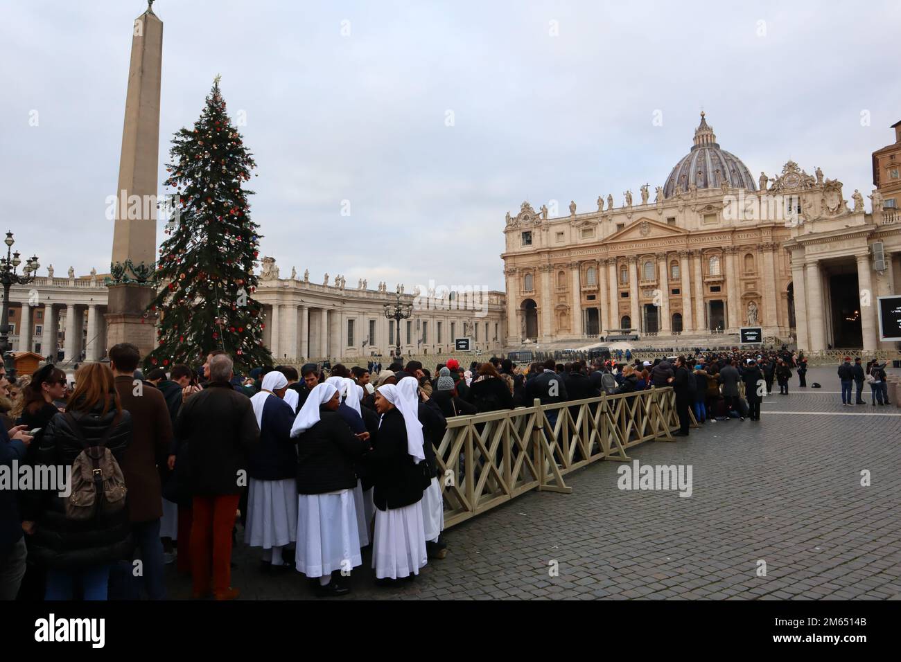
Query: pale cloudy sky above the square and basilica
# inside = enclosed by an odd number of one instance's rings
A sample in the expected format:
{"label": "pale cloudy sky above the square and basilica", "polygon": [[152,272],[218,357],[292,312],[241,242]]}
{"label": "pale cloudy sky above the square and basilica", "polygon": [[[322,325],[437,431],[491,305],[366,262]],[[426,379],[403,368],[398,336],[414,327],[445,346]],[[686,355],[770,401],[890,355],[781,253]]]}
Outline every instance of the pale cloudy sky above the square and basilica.
{"label": "pale cloudy sky above the square and basilica", "polygon": [[[171,134],[221,74],[259,164],[261,252],[283,277],[503,288],[505,212],[652,191],[702,107],[755,177],[794,159],[846,198],[869,193],[870,152],[901,120],[887,48],[901,3],[742,5],[157,0],[159,181]],[[145,7],[0,0],[2,213],[16,248],[58,274],[108,270],[105,199]]]}

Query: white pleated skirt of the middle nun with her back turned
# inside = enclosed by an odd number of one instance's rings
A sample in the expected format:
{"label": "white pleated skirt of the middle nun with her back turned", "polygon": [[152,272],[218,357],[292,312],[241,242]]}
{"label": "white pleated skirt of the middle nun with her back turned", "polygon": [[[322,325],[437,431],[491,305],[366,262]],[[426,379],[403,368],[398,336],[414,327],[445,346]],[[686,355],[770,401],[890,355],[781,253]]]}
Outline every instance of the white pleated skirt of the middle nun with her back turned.
{"label": "white pleated skirt of the middle nun with her back turned", "polygon": [[297,495],[295,562],[297,571],[311,578],[363,564],[352,490]]}

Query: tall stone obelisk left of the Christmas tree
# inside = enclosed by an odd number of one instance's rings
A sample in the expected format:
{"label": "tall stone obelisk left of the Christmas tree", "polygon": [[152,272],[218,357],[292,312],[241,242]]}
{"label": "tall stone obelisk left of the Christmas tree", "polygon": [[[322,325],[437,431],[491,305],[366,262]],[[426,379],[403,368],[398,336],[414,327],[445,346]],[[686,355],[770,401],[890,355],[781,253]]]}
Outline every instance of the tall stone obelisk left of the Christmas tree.
{"label": "tall stone obelisk left of the Christmas tree", "polygon": [[159,169],[159,88],[163,23],[153,0],[132,26],[132,63],[125,96],[125,123],[113,230],[113,276],[108,285],[107,343],[132,342],[145,356],[155,346],[155,319],[145,316],[154,290]]}

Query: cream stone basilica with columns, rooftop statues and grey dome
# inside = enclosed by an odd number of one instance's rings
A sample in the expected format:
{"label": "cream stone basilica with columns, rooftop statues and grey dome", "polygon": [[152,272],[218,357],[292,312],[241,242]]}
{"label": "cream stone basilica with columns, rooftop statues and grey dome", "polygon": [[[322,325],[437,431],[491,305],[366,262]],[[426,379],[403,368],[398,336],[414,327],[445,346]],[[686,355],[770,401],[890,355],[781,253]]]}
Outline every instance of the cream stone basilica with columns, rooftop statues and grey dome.
{"label": "cream stone basilica with columns, rooftop statues and grey dome", "polygon": [[[897,185],[896,152],[877,152],[887,188]],[[808,174],[789,160],[772,177],[753,176],[701,113],[691,150],[653,201],[645,185],[620,206],[599,196],[587,213],[572,202],[569,215],[549,217],[547,205],[523,203],[507,213],[501,256],[507,344],[620,334],[723,334],[737,344],[753,326],[801,349],[887,349],[875,304],[901,285],[901,227],[875,156],[867,213],[860,192],[849,203],[820,168]]]}

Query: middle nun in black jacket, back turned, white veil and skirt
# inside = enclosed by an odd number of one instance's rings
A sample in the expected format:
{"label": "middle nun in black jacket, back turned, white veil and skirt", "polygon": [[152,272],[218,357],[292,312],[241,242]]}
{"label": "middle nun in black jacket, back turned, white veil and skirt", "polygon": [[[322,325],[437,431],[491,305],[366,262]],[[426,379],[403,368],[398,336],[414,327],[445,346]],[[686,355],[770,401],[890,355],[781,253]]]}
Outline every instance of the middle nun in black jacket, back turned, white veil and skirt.
{"label": "middle nun in black jacket, back turned, white veil and skirt", "polygon": [[362,565],[354,462],[369,445],[337,413],[336,385],[314,386],[291,429],[297,439],[296,568],[320,596],[350,592],[343,576]]}

